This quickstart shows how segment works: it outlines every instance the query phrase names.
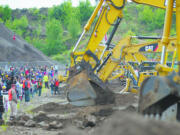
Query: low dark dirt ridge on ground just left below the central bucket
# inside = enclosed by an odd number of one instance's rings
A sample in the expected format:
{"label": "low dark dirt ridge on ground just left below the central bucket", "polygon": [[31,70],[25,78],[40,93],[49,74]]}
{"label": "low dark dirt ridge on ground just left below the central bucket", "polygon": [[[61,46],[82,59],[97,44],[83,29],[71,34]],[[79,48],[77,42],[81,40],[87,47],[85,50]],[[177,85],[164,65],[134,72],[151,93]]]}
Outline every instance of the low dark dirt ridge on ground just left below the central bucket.
{"label": "low dark dirt ridge on ground just left below the central bucket", "polygon": [[60,105],[58,103],[50,102],[47,104],[43,104],[38,106],[37,108],[34,108],[32,112],[39,112],[43,111],[46,112],[47,114],[65,114],[65,113],[71,113],[75,112],[76,107],[68,104],[68,105]]}

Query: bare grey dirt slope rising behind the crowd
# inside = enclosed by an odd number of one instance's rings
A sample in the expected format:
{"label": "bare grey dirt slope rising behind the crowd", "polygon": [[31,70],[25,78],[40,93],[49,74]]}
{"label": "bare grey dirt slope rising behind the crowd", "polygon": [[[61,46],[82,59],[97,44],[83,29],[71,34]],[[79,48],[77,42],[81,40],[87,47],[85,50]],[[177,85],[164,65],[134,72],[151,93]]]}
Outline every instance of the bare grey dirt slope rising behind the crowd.
{"label": "bare grey dirt slope rising behind the crowd", "polygon": [[48,61],[42,52],[29,45],[25,40],[16,35],[13,40],[13,32],[0,23],[0,61],[5,62],[32,62]]}

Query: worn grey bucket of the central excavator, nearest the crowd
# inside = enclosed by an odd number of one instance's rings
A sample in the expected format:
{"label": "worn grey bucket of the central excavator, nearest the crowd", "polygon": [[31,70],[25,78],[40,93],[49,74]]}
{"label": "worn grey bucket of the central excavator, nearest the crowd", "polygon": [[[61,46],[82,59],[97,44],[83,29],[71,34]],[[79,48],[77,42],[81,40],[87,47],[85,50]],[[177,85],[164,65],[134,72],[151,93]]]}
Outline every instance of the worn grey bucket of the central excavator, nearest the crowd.
{"label": "worn grey bucket of the central excavator, nearest the crowd", "polygon": [[83,70],[68,80],[67,99],[75,106],[113,103],[114,94],[105,86],[93,72]]}

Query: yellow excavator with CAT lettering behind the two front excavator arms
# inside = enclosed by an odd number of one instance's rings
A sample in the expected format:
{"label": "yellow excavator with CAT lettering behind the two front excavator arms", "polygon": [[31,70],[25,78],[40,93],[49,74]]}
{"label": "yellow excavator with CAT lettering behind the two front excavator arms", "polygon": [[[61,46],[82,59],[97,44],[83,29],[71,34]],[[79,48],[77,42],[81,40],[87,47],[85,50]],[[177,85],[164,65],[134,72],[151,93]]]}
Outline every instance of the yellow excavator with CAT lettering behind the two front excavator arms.
{"label": "yellow excavator with CAT lettering behind the two front excavator arms", "polygon": [[[131,39],[132,37],[127,37],[119,41],[119,43],[113,48],[111,57],[106,60],[106,63],[101,64],[101,68],[98,69],[98,76],[103,82],[106,82],[107,78],[109,78],[109,76],[117,68],[119,63],[123,63],[123,65],[121,66],[121,68],[123,69],[122,73],[125,74],[124,76],[126,76],[128,79],[127,85],[122,91],[125,92],[130,90],[137,93],[137,90],[139,89],[141,83],[145,78],[157,75],[157,71],[155,71],[154,67],[156,64],[158,64],[158,62],[147,61],[148,59],[144,56],[143,53],[161,52],[162,46],[160,44],[160,40],[142,44],[132,44],[130,42]],[[167,52],[174,51],[174,54],[176,54],[175,49],[176,39],[171,38],[167,48]],[[175,57],[173,57],[172,61],[175,61]],[[137,73],[136,70],[138,70]],[[130,87],[130,80],[133,80],[135,82],[133,87]]]}

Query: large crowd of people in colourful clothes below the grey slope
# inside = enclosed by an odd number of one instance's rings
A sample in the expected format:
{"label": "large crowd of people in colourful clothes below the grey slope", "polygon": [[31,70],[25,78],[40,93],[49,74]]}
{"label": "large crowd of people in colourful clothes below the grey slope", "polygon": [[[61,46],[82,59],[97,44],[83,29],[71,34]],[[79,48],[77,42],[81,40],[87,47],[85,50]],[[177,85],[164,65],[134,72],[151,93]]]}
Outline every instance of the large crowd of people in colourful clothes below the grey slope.
{"label": "large crowd of people in colourful clothes below the grey slope", "polygon": [[59,93],[58,69],[54,66],[0,68],[0,119],[10,108],[10,119],[17,113],[17,103],[28,103],[41,96],[43,84],[52,95]]}

